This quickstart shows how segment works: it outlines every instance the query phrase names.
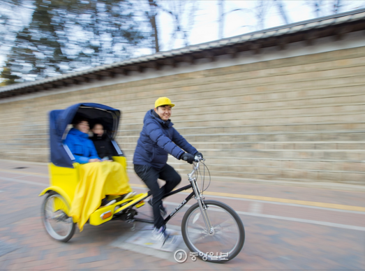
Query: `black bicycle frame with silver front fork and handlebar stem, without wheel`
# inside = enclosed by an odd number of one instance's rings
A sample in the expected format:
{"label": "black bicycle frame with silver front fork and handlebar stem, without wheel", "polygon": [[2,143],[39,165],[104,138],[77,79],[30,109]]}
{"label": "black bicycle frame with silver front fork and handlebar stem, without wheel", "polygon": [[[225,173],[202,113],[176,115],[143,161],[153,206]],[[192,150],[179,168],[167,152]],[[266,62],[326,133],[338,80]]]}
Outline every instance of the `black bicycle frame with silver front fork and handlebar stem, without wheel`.
{"label": "black bicycle frame with silver front fork and handlebar stem, without wheel", "polygon": [[[196,157],[195,156],[195,160],[198,160],[198,162],[196,163],[196,165],[194,165],[193,170],[191,171],[191,173],[188,174],[188,180],[190,182],[190,184],[181,187],[177,190],[171,191],[170,193],[167,193],[165,196],[163,196],[163,198],[166,198],[168,196],[172,196],[176,193],[179,193],[181,191],[184,191],[186,189],[193,189],[193,192],[191,192],[189,194],[189,196],[187,196],[180,204],[179,206],[177,206],[166,218],[165,218],[165,224],[167,223],[167,221],[169,221],[170,219],[172,219],[172,217],[174,217],[175,214],[177,214],[177,212],[179,212],[179,210],[181,210],[182,207],[184,207],[184,205],[186,205],[186,203],[188,203],[189,200],[191,200],[191,198],[193,198],[195,196],[195,199],[198,200],[198,204],[200,207],[200,212],[202,212],[202,216],[204,219],[204,223],[205,226],[207,226],[207,233],[209,233],[209,235],[213,235],[214,234],[214,228],[211,226],[211,222],[209,221],[209,217],[207,214],[207,206],[204,204],[204,198],[202,198],[202,194],[200,193],[199,189],[198,189],[198,184],[196,183],[196,178],[193,177],[194,173],[196,172],[196,170],[198,170],[199,166],[200,166],[200,161],[203,160],[200,157]],[[148,192],[148,195],[150,195],[151,192]],[[154,221],[150,221],[147,219],[138,219],[135,218],[134,221],[140,221],[140,222],[145,222],[145,223],[150,223],[150,224],[154,224]]]}

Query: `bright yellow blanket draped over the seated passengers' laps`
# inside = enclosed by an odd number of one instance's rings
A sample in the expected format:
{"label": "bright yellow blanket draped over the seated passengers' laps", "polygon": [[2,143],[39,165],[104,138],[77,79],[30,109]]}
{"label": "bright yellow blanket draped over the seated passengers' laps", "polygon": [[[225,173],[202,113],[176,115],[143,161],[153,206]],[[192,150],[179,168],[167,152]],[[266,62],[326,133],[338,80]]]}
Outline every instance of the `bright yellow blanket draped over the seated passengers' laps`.
{"label": "bright yellow blanket draped over the seated passengers' laps", "polygon": [[90,215],[100,207],[105,195],[124,195],[131,192],[126,170],[117,162],[85,163],[80,166],[80,182],[76,186],[70,217],[80,231]]}

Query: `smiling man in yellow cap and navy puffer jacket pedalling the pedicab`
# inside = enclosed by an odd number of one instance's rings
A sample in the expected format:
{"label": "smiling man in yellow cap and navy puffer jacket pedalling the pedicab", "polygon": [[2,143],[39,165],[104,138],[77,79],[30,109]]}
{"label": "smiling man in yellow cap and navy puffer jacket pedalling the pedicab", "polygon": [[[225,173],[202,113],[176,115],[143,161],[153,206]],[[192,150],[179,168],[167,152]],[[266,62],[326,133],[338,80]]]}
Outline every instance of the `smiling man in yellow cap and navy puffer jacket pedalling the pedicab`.
{"label": "smiling man in yellow cap and navy puffer jacket pedalling the pedicab", "polygon": [[[149,204],[154,212],[154,231],[156,240],[167,240],[166,226],[163,216],[166,215],[162,198],[181,182],[180,175],[167,165],[167,156],[171,154],[176,159],[193,163],[195,155],[202,156],[200,152],[186,141],[172,127],[170,121],[172,107],[170,98],[161,97],[155,102],[155,108],[147,111],[144,116],[143,128],[133,157],[135,173],[151,190],[152,197]],[[160,188],[157,180],[166,182]]]}

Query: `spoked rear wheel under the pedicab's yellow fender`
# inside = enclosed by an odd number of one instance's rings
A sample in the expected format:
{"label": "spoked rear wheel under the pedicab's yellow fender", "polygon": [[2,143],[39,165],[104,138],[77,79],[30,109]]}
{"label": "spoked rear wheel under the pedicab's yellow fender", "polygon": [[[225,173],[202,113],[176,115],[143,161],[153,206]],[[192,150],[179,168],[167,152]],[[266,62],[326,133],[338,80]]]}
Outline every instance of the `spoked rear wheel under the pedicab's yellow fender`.
{"label": "spoked rear wheel under the pedicab's yellow fender", "polygon": [[42,220],[45,230],[55,240],[67,242],[75,233],[76,224],[68,217],[68,212],[70,207],[59,193],[47,193],[42,205]]}

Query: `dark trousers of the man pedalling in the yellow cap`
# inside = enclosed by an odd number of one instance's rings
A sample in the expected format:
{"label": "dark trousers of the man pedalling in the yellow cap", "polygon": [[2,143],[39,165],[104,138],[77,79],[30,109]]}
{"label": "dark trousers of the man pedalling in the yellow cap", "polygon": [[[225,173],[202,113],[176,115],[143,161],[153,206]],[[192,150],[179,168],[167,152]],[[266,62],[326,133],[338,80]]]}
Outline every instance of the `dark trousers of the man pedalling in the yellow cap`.
{"label": "dark trousers of the man pedalling in the yellow cap", "polygon": [[[135,173],[142,179],[152,193],[152,209],[154,210],[154,225],[156,228],[161,228],[165,225],[165,221],[160,213],[160,205],[165,194],[169,193],[174,187],[181,182],[181,176],[172,168],[165,165],[160,170],[151,166],[134,165]],[[158,186],[157,180],[161,179],[166,182],[164,186]]]}

